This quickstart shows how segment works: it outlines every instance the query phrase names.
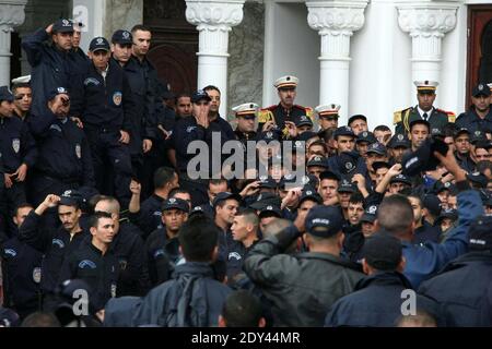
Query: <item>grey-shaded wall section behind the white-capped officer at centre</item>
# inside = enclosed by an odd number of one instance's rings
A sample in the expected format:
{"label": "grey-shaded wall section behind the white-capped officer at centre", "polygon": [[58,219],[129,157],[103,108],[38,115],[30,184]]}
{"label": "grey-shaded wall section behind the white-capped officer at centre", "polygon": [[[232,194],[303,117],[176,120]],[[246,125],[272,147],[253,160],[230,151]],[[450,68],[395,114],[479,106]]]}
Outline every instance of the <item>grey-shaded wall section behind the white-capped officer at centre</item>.
{"label": "grey-shaded wall section behind the white-capped officer at centre", "polygon": [[292,74],[300,79],[295,103],[316,107],[319,100],[319,36],[307,24],[305,3],[266,1],[263,106],[279,103],[273,82]]}

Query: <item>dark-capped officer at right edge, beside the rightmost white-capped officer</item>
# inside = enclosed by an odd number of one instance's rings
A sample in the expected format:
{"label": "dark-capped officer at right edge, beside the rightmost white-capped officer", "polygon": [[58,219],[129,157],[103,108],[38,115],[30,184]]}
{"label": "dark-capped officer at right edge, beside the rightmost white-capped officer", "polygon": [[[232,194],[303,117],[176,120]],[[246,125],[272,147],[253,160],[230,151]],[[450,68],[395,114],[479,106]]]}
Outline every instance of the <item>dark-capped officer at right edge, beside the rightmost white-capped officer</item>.
{"label": "dark-capped officer at right edge, beside the rightmost white-capped officer", "polygon": [[456,119],[458,128],[468,129],[472,134],[476,131],[492,132],[491,92],[489,86],[480,83],[471,93],[472,106],[468,111],[461,112]]}

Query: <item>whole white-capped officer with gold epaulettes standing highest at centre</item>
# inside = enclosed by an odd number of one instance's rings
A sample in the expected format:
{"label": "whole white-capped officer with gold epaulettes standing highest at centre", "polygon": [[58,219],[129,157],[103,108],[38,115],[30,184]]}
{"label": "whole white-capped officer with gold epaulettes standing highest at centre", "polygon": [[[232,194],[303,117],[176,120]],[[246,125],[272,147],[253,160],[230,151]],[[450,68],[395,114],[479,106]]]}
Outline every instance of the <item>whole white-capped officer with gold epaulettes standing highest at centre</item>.
{"label": "whole white-capped officer with gold epaulettes standing highest at centre", "polygon": [[294,105],[297,83],[298,79],[292,75],[282,76],[276,81],[274,86],[278,89],[280,103],[259,111],[258,132],[270,131],[277,127],[286,137],[289,131],[285,128],[285,121],[295,122],[301,116],[313,118],[312,108]]}

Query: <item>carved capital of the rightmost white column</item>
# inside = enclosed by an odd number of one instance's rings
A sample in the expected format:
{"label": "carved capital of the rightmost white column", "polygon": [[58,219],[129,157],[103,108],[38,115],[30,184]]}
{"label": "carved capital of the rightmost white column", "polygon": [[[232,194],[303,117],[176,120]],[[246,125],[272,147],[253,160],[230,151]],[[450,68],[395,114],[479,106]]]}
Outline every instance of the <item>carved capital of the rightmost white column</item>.
{"label": "carved capital of the rightmost white column", "polygon": [[399,2],[398,24],[411,37],[444,37],[456,26],[458,7],[459,3],[450,1]]}

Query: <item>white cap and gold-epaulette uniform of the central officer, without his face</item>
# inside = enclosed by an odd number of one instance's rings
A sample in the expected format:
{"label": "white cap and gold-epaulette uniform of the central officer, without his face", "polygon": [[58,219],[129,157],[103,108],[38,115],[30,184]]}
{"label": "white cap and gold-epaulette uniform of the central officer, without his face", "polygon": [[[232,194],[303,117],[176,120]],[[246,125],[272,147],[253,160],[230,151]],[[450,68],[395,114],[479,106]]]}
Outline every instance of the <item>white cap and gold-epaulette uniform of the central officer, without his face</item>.
{"label": "white cap and gold-epaulette uniform of the central officer, without his face", "polygon": [[[286,75],[278,79],[274,83],[277,89],[285,87],[297,87],[298,79],[292,75]],[[263,108],[258,112],[258,132],[261,132],[266,122],[272,120],[279,130],[282,131],[283,137],[289,134],[285,121],[295,121],[302,117],[307,116],[313,120],[313,108],[293,105],[291,109],[285,109],[279,103],[278,105]]]}

